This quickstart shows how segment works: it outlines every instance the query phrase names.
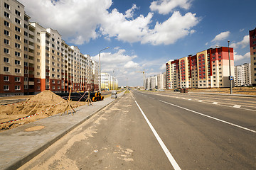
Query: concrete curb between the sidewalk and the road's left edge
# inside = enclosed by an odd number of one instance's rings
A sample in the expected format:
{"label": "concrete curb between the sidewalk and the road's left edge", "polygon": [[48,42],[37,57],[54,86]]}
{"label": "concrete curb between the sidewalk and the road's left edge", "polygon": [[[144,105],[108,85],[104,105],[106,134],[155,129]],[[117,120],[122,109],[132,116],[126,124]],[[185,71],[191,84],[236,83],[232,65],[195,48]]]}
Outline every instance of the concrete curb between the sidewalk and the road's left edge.
{"label": "concrete curb between the sidewalk and the road's left edge", "polygon": [[[43,152],[43,150],[45,150],[48,147],[50,147],[50,145],[53,145],[54,142],[59,140],[61,137],[66,135],[71,130],[74,130],[75,128],[77,128],[79,125],[84,123],[86,120],[90,119],[93,115],[95,115],[96,113],[100,112],[103,108],[106,108],[107,106],[110,106],[112,103],[116,103],[117,101],[119,101],[119,98],[122,98],[122,96],[124,96],[124,93],[125,93],[125,91],[123,91],[120,94],[119,97],[115,98],[113,101],[110,101],[110,103],[107,103],[105,106],[102,106],[101,108],[98,108],[96,111],[93,111],[92,113],[90,113],[90,115],[87,115],[87,117],[82,119],[80,122],[76,123],[75,125],[71,126],[68,129],[66,129],[64,132],[60,133],[59,135],[53,137],[53,139],[51,139],[48,142],[44,143],[41,147],[38,147],[38,148],[34,149],[30,153],[24,155],[24,157],[22,157],[21,159],[16,160],[16,162],[11,163],[8,167],[6,167],[4,169],[12,170],[12,169],[18,169],[19,167],[23,166],[23,164],[26,164],[26,162],[28,162],[29,160],[33,159],[33,157],[36,157],[36,155],[38,155],[41,152]],[[78,111],[79,108],[81,108],[81,107],[82,106],[80,106],[78,108],[75,108],[75,111]],[[58,115],[60,115],[60,113]],[[56,116],[56,115],[53,115],[53,116]],[[50,117],[52,117],[52,116],[50,116]],[[48,118],[50,118],[50,117],[48,117]]]}

